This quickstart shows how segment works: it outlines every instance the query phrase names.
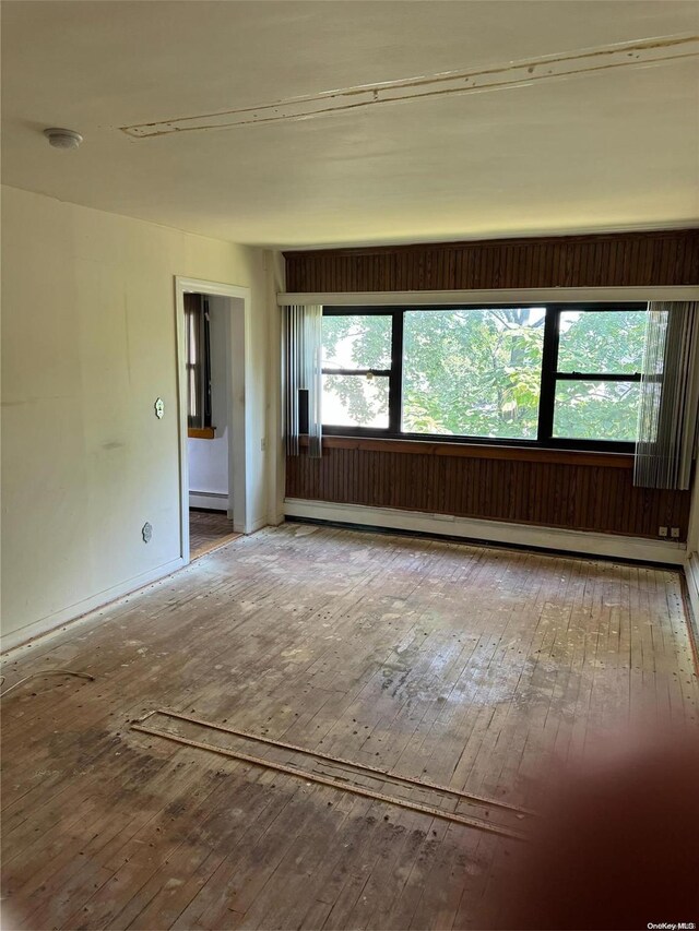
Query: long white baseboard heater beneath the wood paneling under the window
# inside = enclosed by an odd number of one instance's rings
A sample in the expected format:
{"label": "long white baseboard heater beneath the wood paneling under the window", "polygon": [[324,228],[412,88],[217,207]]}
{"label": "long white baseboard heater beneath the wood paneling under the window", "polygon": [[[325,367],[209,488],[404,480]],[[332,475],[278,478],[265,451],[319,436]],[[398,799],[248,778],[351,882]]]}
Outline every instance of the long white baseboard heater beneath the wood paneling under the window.
{"label": "long white baseboard heater beneath the wood paneling under the window", "polygon": [[506,524],[500,521],[453,517],[449,514],[428,514],[422,511],[400,511],[394,508],[306,501],[300,498],[287,498],[284,501],[284,514],[287,517],[310,517],[342,524],[416,530],[484,542],[511,544],[680,566],[685,565],[687,556],[683,544],[672,541],[663,542],[647,540],[642,537],[621,537],[585,530],[564,530],[558,527],[538,527],[530,524]]}

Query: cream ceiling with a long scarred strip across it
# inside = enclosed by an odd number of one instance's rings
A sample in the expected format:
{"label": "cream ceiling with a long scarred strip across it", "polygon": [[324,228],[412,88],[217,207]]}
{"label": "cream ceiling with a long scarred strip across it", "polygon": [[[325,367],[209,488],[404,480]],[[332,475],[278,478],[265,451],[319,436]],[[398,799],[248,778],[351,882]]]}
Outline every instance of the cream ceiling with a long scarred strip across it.
{"label": "cream ceiling with a long scarred strip across it", "polygon": [[[273,248],[695,226],[696,55],[308,119],[123,128],[698,32],[684,0],[4,0],[2,180]],[[50,148],[51,126],[80,150]]]}

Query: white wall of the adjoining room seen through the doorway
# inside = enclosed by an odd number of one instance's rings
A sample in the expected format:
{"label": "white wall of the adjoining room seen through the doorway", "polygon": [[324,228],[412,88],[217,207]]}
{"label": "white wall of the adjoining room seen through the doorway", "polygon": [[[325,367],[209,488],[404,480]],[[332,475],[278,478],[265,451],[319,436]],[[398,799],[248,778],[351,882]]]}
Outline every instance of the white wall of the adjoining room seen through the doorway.
{"label": "white wall of the adjoining room seen through the doorway", "polygon": [[[230,308],[226,298],[209,300],[211,342],[211,415],[216,435],[213,440],[189,439],[189,490],[222,496],[202,506],[227,511],[233,505],[228,496],[228,348],[230,346]],[[199,505],[197,505],[199,506]]]}

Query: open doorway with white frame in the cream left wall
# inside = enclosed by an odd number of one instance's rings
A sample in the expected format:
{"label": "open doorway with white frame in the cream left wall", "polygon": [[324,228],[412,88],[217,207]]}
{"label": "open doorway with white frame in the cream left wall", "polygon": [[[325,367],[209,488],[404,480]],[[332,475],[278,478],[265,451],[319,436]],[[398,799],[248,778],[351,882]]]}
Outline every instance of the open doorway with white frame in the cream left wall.
{"label": "open doorway with white frame in the cream left wall", "polygon": [[185,562],[250,533],[245,390],[249,307],[248,288],[176,278]]}

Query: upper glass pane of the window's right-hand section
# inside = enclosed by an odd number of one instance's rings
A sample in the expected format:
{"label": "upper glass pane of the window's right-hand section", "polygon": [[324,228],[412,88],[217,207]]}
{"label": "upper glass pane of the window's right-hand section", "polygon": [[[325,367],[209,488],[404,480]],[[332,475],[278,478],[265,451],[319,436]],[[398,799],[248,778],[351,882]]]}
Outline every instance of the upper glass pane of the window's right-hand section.
{"label": "upper glass pane of the window's right-hand section", "polygon": [[644,310],[565,310],[560,314],[558,371],[640,372],[645,315]]}

